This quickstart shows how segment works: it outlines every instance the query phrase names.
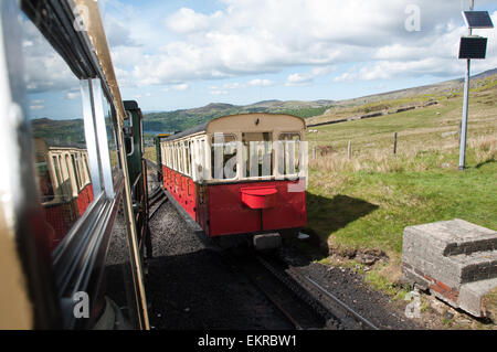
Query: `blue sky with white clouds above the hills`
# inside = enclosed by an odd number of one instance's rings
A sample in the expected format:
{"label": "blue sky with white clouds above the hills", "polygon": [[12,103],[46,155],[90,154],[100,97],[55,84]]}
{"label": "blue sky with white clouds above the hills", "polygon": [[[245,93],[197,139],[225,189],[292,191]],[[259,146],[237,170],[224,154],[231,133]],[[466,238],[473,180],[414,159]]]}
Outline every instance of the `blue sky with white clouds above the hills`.
{"label": "blue sky with white clouds above the hills", "polygon": [[[495,1],[475,2],[497,23]],[[146,111],[339,100],[462,77],[465,70],[456,56],[469,0],[99,3],[123,97]],[[497,67],[496,30],[477,34],[489,42],[474,73]]]}

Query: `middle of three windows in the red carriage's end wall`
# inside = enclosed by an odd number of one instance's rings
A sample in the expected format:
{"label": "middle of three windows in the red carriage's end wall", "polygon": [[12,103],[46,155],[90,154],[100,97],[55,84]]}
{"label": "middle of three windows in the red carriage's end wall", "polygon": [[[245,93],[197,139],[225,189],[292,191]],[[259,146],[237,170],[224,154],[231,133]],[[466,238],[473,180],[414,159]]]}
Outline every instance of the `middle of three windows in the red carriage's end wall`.
{"label": "middle of three windows in the red carriage's end wall", "polygon": [[242,134],[245,178],[273,175],[273,134]]}

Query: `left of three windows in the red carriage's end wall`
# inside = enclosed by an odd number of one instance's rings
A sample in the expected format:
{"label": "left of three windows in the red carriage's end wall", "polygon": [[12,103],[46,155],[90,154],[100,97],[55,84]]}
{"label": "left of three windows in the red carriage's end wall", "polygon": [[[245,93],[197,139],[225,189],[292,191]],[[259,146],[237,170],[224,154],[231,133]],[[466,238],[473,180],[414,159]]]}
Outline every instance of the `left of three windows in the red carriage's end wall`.
{"label": "left of three windows in the red carriage's end wall", "polygon": [[236,178],[236,137],[215,134],[211,140],[211,170],[214,180]]}

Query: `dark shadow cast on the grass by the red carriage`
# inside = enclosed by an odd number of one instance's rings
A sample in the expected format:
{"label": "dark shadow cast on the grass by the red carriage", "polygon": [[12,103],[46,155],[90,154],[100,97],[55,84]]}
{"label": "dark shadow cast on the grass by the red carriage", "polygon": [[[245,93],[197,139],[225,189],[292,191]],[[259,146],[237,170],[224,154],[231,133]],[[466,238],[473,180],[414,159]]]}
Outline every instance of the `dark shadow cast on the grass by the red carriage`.
{"label": "dark shadow cast on the grass by the red carriage", "polygon": [[287,244],[306,252],[314,260],[326,258],[329,255],[330,235],[378,209],[376,204],[343,194],[330,199],[307,193],[308,228],[305,232],[310,238],[305,243],[287,241]]}

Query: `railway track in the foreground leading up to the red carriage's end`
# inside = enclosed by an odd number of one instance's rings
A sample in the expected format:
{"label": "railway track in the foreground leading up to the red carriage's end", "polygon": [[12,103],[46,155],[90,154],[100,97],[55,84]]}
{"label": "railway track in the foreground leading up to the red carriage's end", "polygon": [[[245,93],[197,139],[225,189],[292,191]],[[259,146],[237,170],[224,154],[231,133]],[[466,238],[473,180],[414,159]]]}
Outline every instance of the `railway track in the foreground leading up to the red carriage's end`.
{"label": "railway track in the foreground leading up to the red carriage's end", "polygon": [[380,330],[313,278],[273,256],[228,250],[223,257],[297,330]]}

